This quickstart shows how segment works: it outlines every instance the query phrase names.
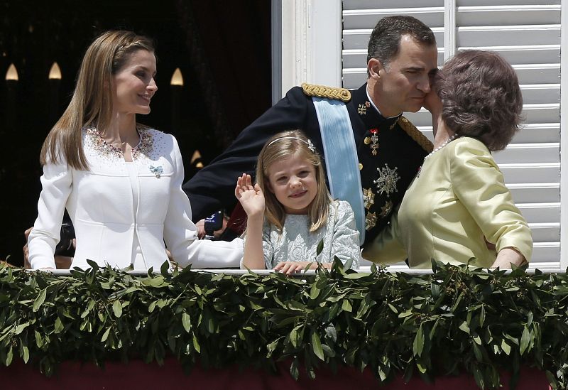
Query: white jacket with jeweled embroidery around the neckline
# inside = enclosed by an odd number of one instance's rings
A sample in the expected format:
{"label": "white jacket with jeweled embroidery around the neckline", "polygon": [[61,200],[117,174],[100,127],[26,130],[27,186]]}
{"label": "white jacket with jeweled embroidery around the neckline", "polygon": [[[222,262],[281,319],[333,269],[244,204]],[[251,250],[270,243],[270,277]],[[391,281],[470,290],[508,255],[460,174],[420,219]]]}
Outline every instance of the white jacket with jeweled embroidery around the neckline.
{"label": "white jacket with jeweled embroidery around the neckline", "polygon": [[242,242],[197,240],[190,201],[181,189],[183,165],[175,137],[143,127],[138,132],[141,142],[132,151],[137,191],[132,190],[124,157],[94,128],[82,132],[90,170],[68,168],[65,161],[43,167],[38,218],[28,238],[33,269],[55,268],[53,253],[65,208],[77,237],[71,267],[87,269],[87,259],[117,268],[130,266],[134,234],[148,268],[158,270],[168,260],[164,241],[182,266],[239,266]]}

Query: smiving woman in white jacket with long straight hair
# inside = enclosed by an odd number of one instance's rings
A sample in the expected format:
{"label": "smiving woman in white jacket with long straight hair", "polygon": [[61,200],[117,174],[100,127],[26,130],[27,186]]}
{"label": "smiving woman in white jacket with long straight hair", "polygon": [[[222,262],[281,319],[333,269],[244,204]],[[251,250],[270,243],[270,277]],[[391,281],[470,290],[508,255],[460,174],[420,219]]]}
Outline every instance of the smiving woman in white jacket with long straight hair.
{"label": "smiving woman in white jacket with long straight hair", "polygon": [[71,102],[43,143],[38,218],[28,237],[34,269],[55,268],[65,208],[77,233],[71,266],[146,270],[168,261],[239,264],[242,242],[197,241],[182,191],[178,142],[139,124],[158,86],[153,43],[109,31],[87,49]]}

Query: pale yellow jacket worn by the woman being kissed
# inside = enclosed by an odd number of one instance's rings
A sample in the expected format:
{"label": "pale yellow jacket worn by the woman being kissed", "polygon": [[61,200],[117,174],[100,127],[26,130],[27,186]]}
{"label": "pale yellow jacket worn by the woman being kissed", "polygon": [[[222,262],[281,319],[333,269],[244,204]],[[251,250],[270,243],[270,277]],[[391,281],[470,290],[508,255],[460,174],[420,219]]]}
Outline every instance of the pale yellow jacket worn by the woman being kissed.
{"label": "pale yellow jacket worn by the woman being kissed", "polygon": [[[488,249],[485,239],[496,245]],[[431,259],[489,267],[503,248],[527,261],[532,235],[488,148],[461,137],[432,153],[405,193],[398,214],[363,251],[376,263],[402,261],[430,268]]]}

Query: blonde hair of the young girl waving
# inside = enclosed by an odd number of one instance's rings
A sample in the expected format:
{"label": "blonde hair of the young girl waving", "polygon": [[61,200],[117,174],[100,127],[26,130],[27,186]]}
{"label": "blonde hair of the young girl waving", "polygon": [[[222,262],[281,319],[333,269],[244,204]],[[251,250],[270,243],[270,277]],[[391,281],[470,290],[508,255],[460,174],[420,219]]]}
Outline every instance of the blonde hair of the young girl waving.
{"label": "blonde hair of the young girl waving", "polygon": [[289,158],[290,156],[305,158],[315,168],[317,193],[312,203],[310,203],[307,212],[311,222],[310,232],[315,232],[327,222],[329,203],[332,202],[332,196],[329,195],[325,185],[325,173],[320,155],[315,151],[311,141],[308,141],[300,130],[283,131],[276,134],[266,142],[258,155],[256,181],[264,193],[266,220],[282,232],[286,212],[283,205],[278,202],[275,195],[269,190],[268,168],[276,161]]}

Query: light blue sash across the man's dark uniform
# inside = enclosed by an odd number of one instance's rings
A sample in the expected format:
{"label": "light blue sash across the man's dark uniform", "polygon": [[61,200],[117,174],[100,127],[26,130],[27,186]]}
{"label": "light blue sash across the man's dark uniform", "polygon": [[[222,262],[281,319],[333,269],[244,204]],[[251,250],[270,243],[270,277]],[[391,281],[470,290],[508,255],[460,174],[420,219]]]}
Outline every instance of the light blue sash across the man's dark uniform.
{"label": "light blue sash across the man's dark uniform", "polygon": [[324,145],[327,182],[332,197],[346,200],[355,213],[359,244],[365,241],[365,208],[359,174],[359,159],[344,102],[312,97]]}

